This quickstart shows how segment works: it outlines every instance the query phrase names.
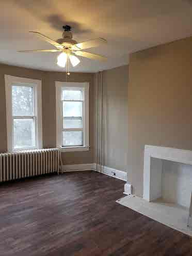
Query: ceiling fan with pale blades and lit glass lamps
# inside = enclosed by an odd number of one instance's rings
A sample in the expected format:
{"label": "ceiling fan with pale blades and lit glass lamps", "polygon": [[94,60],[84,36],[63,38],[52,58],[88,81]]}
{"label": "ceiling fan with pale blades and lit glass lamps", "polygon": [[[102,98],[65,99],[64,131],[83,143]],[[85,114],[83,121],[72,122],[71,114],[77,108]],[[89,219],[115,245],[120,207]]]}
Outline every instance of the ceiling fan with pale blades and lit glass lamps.
{"label": "ceiling fan with pale blades and lit glass lamps", "polygon": [[41,37],[41,39],[45,40],[48,43],[53,44],[56,49],[53,50],[28,50],[28,51],[18,51],[20,53],[39,53],[39,52],[61,52],[57,57],[57,65],[60,67],[65,68],[68,75],[70,75],[69,72],[69,60],[71,61],[71,64],[73,67],[78,65],[80,60],[75,56],[82,56],[89,59],[94,60],[101,60],[105,61],[107,58],[98,54],[83,52],[82,50],[88,49],[91,47],[99,46],[100,44],[107,43],[107,40],[104,38],[97,38],[93,40],[89,40],[82,43],[77,43],[75,40],[73,40],[73,35],[71,33],[71,26],[66,25],[63,26],[63,33],[62,38],[57,39],[56,41],[52,40],[49,37],[44,36],[43,34],[36,32],[36,31],[29,31],[30,33],[35,33]]}

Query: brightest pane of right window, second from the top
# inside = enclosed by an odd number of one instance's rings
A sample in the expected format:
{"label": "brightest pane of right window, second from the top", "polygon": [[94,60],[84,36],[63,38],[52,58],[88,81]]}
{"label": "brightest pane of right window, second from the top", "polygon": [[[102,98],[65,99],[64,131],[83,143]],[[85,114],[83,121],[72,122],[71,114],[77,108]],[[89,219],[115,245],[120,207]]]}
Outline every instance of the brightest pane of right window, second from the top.
{"label": "brightest pane of right window, second from the top", "polygon": [[63,102],[62,106],[64,117],[82,117],[83,102]]}

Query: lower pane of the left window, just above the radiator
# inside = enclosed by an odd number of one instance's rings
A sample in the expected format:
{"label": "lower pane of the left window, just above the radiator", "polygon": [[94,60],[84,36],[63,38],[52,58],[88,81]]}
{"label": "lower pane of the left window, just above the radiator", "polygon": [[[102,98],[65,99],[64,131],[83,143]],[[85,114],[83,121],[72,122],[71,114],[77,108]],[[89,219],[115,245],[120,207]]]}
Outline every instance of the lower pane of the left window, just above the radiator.
{"label": "lower pane of the left window, just above the radiator", "polygon": [[35,147],[35,122],[33,119],[13,120],[14,149]]}

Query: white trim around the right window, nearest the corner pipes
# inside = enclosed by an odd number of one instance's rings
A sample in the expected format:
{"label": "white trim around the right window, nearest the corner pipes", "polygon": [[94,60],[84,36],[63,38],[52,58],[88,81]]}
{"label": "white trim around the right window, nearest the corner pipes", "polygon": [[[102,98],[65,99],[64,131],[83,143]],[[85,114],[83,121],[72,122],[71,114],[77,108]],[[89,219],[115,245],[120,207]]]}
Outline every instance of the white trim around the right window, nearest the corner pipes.
{"label": "white trim around the right window, nearest the corner pipes", "polygon": [[[88,151],[89,150],[89,83],[74,83],[74,82],[58,82],[55,81],[56,87],[56,143],[57,147],[61,148],[62,152]],[[84,88],[84,146],[80,147],[61,147],[61,88]]]}

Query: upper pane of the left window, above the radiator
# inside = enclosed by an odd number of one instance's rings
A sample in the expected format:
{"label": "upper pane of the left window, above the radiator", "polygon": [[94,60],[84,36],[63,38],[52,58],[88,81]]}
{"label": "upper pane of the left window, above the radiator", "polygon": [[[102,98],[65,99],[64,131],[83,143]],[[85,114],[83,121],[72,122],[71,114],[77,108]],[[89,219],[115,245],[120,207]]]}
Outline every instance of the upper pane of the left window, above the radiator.
{"label": "upper pane of the left window, above the radiator", "polygon": [[12,86],[13,116],[33,116],[33,87]]}

